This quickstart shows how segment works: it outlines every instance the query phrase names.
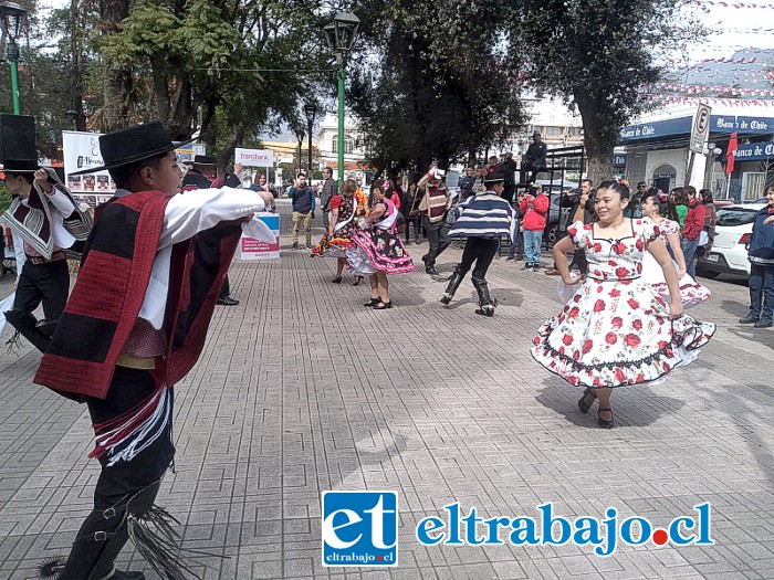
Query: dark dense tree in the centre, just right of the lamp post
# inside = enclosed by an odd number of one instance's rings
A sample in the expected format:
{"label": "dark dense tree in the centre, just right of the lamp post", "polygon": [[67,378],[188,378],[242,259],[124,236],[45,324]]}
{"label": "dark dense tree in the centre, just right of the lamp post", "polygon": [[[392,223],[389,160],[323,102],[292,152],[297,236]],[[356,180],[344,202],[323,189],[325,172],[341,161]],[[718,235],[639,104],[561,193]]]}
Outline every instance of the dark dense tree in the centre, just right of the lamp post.
{"label": "dark dense tree in the centre, just right of the lamp post", "polygon": [[377,0],[357,11],[368,50],[353,62],[349,97],[377,170],[474,157],[512,136],[522,108],[501,8],[500,0]]}

